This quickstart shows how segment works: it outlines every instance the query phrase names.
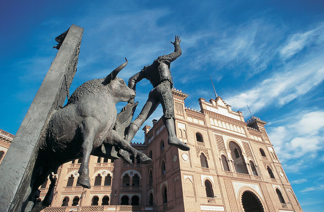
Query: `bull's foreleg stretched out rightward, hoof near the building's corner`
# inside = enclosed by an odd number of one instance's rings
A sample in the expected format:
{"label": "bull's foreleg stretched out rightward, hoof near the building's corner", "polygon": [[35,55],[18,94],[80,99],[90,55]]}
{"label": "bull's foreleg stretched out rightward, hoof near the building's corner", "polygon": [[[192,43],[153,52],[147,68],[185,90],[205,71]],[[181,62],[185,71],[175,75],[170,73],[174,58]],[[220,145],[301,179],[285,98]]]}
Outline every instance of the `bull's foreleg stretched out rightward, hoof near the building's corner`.
{"label": "bull's foreleg stretched out rightward, hoof near the building's corner", "polygon": [[112,130],[111,139],[113,141],[113,145],[117,146],[135,156],[135,158],[139,159],[141,163],[149,163],[152,161],[149,157],[147,157],[144,153],[138,151],[134,147],[132,147],[126,140],[124,140],[115,130]]}

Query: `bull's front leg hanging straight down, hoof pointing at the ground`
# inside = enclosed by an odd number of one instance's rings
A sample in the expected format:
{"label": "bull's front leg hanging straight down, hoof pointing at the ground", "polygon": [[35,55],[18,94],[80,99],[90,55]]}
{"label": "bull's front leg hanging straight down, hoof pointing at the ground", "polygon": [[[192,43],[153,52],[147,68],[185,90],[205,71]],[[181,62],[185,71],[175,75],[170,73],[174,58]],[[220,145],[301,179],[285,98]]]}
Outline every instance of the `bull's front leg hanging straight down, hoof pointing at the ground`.
{"label": "bull's front leg hanging straight down, hoof pointing at the ground", "polygon": [[99,122],[93,117],[86,117],[80,124],[79,128],[82,134],[82,161],[79,169],[77,183],[84,188],[91,188],[89,178],[89,158],[92,151],[93,141]]}

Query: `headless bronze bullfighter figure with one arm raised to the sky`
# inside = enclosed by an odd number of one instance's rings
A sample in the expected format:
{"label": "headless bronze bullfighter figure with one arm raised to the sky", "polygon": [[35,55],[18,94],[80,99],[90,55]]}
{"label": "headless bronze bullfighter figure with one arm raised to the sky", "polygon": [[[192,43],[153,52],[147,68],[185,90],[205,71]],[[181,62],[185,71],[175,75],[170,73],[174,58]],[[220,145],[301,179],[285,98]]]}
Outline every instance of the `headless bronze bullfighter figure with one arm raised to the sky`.
{"label": "headless bronze bullfighter figure with one arm raised to the sky", "polygon": [[[161,104],[163,109],[162,121],[168,131],[168,144],[178,147],[183,151],[190,150],[190,147],[177,138],[174,128],[174,103],[171,92],[173,83],[169,68],[170,63],[181,55],[180,42],[179,36],[176,35],[174,42],[171,41],[174,45],[174,52],[168,55],[159,56],[151,65],[144,66],[140,72],[129,78],[128,87],[133,90],[136,88],[136,83],[144,78],[148,79],[153,85],[153,89],[148,94],[148,99],[142,111],[129,126],[128,134],[126,135],[126,141],[129,143],[132,141],[141,125],[156,110],[157,106]],[[128,101],[127,106],[133,103],[134,99],[131,99]],[[124,161],[131,162],[126,151],[120,150],[119,155]]]}

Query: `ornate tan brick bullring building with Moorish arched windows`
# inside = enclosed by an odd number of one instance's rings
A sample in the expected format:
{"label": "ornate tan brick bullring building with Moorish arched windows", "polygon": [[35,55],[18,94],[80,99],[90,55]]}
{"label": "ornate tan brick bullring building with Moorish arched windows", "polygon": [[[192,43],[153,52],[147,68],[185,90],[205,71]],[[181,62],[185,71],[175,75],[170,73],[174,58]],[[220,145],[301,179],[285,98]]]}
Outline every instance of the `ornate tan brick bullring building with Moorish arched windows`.
{"label": "ornate tan brick bullring building with Moorish arched windows", "polygon": [[[149,164],[91,156],[91,189],[76,183],[80,160],[63,164],[56,175],[51,207],[44,212],[302,211],[273,145],[265,121],[244,121],[221,97],[200,98],[200,111],[187,108],[187,94],[172,89],[178,138],[190,146],[168,145],[162,120],[143,127],[145,141],[132,146]],[[50,181],[41,185],[41,201]]]}

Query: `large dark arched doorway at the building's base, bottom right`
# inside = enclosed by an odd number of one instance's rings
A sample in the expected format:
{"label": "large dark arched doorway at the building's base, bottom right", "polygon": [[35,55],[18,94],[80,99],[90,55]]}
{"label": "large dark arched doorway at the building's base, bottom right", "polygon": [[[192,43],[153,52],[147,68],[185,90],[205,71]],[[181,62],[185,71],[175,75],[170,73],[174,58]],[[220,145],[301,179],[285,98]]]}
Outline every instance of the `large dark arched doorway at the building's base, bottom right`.
{"label": "large dark arched doorway at the building's base, bottom right", "polygon": [[260,199],[250,191],[243,192],[242,205],[245,212],[264,212]]}

